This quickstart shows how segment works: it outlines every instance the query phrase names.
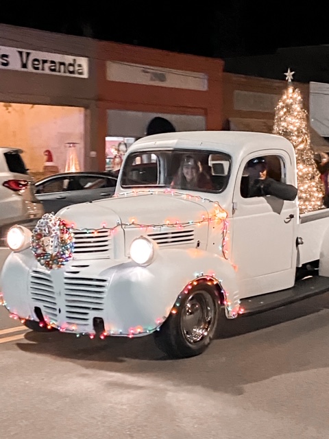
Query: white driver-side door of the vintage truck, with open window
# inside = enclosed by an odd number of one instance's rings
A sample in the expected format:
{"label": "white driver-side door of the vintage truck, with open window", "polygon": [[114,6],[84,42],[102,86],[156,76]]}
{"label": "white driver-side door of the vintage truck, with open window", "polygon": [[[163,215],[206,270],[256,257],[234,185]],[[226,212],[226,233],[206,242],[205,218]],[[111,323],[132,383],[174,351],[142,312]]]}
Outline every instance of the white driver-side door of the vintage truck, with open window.
{"label": "white driver-side door of the vintage truck, with open window", "polygon": [[[297,199],[284,201],[273,195],[251,196],[255,176],[247,156],[239,168],[233,195],[232,262],[236,265],[241,297],[256,296],[291,287],[295,281]],[[267,176],[296,185],[289,175],[291,158],[283,150],[265,152]],[[248,169],[248,172],[246,170]]]}

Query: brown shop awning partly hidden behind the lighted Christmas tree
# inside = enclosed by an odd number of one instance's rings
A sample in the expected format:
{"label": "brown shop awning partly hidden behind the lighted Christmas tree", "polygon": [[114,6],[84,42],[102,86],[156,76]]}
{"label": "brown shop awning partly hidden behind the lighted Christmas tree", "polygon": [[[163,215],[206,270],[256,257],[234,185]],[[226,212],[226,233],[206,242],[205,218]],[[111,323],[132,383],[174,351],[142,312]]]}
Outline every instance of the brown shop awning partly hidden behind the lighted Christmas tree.
{"label": "brown shop awning partly hidden behind the lighted Christmas tree", "polygon": [[[229,119],[230,131],[269,132],[273,130],[274,121],[271,119],[247,119],[232,117]],[[310,144],[314,152],[329,152],[329,142],[310,127]]]}

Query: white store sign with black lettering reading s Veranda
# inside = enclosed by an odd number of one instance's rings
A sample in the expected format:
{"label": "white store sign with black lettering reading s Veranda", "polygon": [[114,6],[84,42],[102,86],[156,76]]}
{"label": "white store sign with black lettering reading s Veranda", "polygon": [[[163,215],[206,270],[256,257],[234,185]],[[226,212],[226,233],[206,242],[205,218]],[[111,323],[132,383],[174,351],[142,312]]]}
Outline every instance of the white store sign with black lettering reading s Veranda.
{"label": "white store sign with black lettering reading s Veranda", "polygon": [[0,46],[0,69],[88,78],[88,58]]}

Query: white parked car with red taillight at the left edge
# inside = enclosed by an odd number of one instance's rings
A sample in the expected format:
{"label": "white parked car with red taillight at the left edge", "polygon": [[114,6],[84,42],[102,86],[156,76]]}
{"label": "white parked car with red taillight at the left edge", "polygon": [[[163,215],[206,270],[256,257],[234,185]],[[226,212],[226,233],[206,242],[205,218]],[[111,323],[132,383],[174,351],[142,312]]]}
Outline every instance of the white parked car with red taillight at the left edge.
{"label": "white parked car with red taillight at the left edge", "polygon": [[33,228],[45,213],[21,154],[17,148],[0,147],[0,268],[10,252],[5,241],[9,228],[14,224]]}

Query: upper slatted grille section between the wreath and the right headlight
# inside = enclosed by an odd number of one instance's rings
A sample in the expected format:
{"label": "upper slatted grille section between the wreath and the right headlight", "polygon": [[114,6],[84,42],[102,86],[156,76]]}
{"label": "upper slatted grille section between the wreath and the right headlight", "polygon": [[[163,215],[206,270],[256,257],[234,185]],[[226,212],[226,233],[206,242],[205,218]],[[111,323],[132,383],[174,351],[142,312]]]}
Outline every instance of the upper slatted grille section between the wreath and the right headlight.
{"label": "upper slatted grille section between the wreath and the right headlight", "polygon": [[74,257],[82,257],[92,253],[92,257],[103,256],[112,250],[110,230],[73,230]]}

